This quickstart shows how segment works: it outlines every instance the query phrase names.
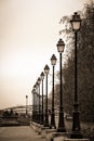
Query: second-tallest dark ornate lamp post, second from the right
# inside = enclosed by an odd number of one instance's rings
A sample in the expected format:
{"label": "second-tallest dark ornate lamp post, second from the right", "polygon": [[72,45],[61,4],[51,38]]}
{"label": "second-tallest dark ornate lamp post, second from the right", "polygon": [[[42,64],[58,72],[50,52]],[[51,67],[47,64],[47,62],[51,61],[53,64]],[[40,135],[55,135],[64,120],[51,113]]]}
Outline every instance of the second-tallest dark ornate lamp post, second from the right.
{"label": "second-tallest dark ornate lamp post, second from the right", "polygon": [[65,43],[62,39],[59,39],[57,43],[57,51],[59,52],[59,75],[61,75],[61,80],[59,80],[59,119],[58,119],[58,132],[66,132],[65,129],[65,123],[64,123],[64,107],[63,107],[63,88],[62,88],[62,53],[64,52]]}

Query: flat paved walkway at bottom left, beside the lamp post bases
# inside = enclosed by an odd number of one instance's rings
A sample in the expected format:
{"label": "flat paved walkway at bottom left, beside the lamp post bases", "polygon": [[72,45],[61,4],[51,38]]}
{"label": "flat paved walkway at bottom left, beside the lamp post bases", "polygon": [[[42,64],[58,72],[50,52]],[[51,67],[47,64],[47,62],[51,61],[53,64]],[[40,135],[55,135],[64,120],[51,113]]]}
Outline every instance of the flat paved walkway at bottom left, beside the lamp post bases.
{"label": "flat paved walkway at bottom left, beside the lamp post bases", "polygon": [[0,141],[45,141],[30,126],[0,127]]}

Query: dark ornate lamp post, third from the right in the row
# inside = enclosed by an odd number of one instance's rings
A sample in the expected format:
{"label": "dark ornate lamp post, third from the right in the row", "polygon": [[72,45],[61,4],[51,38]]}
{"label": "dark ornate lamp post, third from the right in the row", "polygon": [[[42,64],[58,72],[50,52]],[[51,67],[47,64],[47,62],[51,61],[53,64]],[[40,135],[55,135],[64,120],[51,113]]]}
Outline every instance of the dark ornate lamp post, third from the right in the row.
{"label": "dark ornate lamp post, third from the right in the row", "polygon": [[56,65],[56,56],[53,54],[51,57],[51,64],[53,66],[53,77],[52,77],[52,114],[51,114],[51,127],[56,128],[55,126],[55,114],[54,114],[54,67]]}

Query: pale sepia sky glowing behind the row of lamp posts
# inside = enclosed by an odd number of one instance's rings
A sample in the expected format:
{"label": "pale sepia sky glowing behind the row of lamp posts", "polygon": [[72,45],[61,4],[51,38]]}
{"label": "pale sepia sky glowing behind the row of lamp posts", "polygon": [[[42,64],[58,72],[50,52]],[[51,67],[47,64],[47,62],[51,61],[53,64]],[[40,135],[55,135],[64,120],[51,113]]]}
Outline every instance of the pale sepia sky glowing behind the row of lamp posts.
{"label": "pale sepia sky glowing behind the row of lamp posts", "polygon": [[[0,0],[0,108],[23,105],[53,53],[59,20],[85,0]],[[57,61],[58,67],[58,61]],[[51,76],[49,76],[51,77]],[[51,81],[49,81],[51,87]]]}

